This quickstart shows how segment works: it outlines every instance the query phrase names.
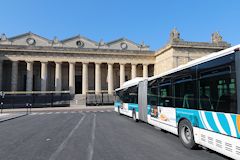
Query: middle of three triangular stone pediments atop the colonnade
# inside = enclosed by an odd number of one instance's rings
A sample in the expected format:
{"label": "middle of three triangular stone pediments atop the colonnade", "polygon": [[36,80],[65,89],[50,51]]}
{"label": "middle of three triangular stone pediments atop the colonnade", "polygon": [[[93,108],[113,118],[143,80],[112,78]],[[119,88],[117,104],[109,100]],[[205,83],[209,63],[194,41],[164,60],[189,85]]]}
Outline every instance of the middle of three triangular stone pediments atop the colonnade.
{"label": "middle of three triangular stone pediments atop the colonnade", "polygon": [[98,43],[86,37],[77,35],[61,41],[64,47],[98,48]]}

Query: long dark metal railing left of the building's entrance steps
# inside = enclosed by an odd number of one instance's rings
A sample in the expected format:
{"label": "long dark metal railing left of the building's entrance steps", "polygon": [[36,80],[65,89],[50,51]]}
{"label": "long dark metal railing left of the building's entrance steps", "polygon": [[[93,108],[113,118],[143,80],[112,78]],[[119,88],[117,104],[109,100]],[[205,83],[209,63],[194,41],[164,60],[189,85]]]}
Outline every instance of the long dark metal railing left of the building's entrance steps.
{"label": "long dark metal railing left of the building's entrance steps", "polygon": [[1,112],[11,108],[67,107],[73,97],[69,91],[0,92]]}

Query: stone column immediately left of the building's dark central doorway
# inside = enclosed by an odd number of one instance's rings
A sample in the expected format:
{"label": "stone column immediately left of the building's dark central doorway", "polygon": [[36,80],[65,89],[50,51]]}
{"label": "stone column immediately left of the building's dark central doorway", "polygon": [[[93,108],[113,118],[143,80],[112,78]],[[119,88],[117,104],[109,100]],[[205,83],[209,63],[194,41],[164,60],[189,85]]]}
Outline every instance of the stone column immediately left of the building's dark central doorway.
{"label": "stone column immediately left of the building's dark central doorway", "polygon": [[68,85],[70,94],[75,94],[75,62],[69,62]]}

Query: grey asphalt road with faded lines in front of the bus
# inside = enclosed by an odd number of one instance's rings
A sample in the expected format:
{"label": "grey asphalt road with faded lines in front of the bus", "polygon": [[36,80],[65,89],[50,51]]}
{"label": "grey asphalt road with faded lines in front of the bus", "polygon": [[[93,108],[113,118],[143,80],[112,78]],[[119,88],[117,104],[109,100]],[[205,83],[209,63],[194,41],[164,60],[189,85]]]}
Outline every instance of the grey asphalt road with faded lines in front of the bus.
{"label": "grey asphalt road with faded lines in front of the bus", "polygon": [[223,160],[115,112],[38,112],[0,123],[1,160]]}

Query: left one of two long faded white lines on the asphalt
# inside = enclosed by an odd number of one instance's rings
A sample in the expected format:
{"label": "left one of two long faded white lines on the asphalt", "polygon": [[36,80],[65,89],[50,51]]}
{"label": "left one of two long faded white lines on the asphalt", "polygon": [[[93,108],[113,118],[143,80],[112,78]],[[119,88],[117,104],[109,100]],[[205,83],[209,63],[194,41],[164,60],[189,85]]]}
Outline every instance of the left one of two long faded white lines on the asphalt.
{"label": "left one of two long faded white lines on the asphalt", "polygon": [[57,150],[51,155],[51,157],[49,158],[49,160],[55,160],[57,159],[57,156],[59,155],[59,153],[61,153],[61,151],[64,149],[64,147],[66,146],[68,140],[72,137],[73,133],[78,129],[78,127],[82,124],[82,121],[85,118],[85,114],[82,114],[82,118],[78,121],[78,123],[76,124],[76,126],[72,129],[72,131],[69,133],[69,135],[64,139],[64,141],[60,144],[60,146],[57,148]]}

